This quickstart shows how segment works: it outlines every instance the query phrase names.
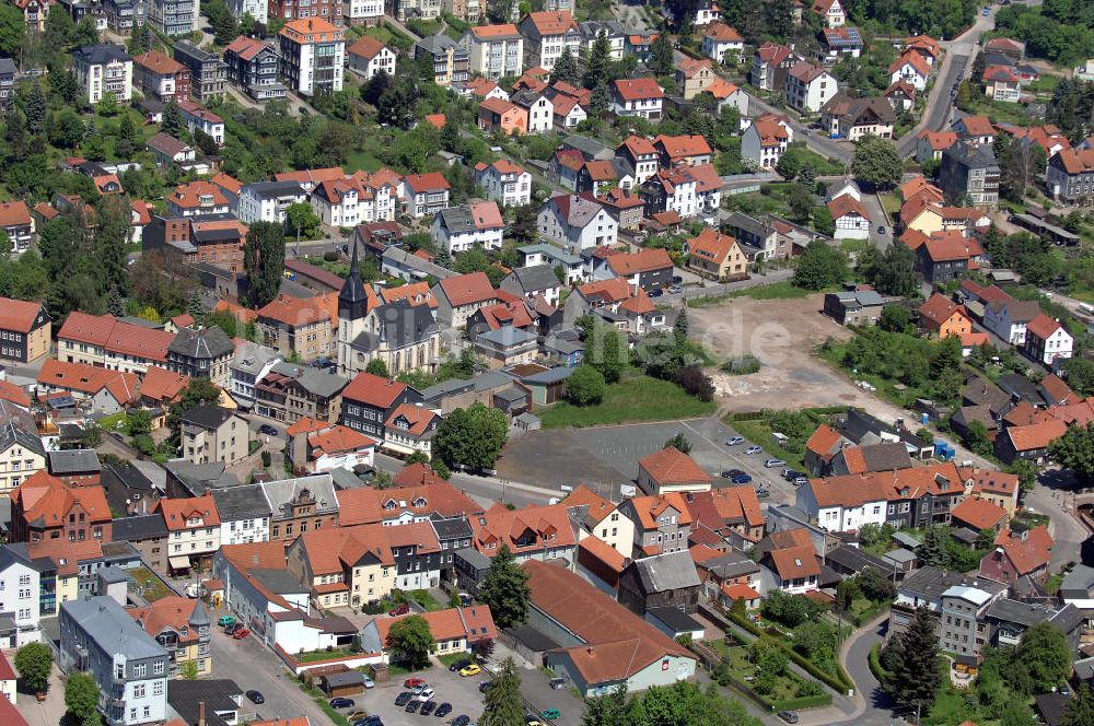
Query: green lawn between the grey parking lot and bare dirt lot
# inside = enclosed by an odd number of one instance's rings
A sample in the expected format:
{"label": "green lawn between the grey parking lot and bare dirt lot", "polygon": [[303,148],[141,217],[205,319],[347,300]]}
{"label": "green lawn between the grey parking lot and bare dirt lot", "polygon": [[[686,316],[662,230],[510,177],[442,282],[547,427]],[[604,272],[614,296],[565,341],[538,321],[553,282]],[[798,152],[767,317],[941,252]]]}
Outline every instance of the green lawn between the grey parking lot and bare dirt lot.
{"label": "green lawn between the grey parking lot and bare dirt lot", "polygon": [[635,421],[676,421],[714,412],[713,401],[700,401],[668,380],[645,375],[625,378],[607,387],[596,406],[573,406],[562,401],[540,409],[545,429],[604,426]]}

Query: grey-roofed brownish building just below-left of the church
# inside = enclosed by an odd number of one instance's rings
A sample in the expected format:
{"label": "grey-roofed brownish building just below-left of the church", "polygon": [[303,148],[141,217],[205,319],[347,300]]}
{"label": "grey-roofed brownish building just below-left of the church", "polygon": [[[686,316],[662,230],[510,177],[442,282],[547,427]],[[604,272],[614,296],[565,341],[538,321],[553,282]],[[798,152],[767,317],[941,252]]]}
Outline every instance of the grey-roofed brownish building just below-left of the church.
{"label": "grey-roofed brownish building just below-left of the church", "polygon": [[293,363],[278,363],[255,384],[254,412],[287,424],[310,417],[334,422],[341,410],[341,376]]}

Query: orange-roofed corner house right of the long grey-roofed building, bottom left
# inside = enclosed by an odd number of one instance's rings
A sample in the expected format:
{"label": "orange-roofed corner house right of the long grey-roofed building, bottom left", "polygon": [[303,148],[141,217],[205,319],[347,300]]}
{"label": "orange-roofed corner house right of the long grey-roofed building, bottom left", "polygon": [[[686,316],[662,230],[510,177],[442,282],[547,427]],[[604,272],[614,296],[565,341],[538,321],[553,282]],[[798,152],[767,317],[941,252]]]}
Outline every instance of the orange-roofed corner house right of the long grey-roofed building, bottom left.
{"label": "orange-roofed corner house right of the long grey-roofed building, bottom left", "polygon": [[177,595],[126,612],[167,652],[168,672],[178,678],[182,667],[193,664],[198,676],[212,672],[209,629],[212,621],[201,600]]}

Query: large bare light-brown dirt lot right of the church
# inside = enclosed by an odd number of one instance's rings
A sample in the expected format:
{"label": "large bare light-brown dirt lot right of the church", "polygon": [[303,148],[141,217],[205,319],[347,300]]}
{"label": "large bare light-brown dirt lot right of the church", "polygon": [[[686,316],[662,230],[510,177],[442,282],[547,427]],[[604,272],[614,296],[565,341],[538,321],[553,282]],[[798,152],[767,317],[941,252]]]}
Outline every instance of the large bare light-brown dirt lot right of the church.
{"label": "large bare light-brown dirt lot right of the church", "polygon": [[826,339],[846,340],[850,330],[821,314],[823,295],[803,300],[730,298],[717,307],[688,309],[690,336],[720,358],[753,354],[758,373],[714,372],[724,411],[858,406],[882,420],[906,417],[899,408],[856,388],[841,373],[812,354]]}

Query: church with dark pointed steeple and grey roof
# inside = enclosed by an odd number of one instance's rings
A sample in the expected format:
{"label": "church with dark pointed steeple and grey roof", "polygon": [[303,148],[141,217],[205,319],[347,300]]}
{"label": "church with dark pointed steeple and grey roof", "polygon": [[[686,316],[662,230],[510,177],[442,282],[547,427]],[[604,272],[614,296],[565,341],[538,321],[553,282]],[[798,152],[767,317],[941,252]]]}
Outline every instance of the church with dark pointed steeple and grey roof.
{"label": "church with dark pointed steeple and grey roof", "polygon": [[381,360],[394,377],[409,371],[437,370],[441,335],[429,305],[407,300],[382,304],[361,280],[354,239],[349,276],[338,293],[338,373],[352,377],[372,360]]}

